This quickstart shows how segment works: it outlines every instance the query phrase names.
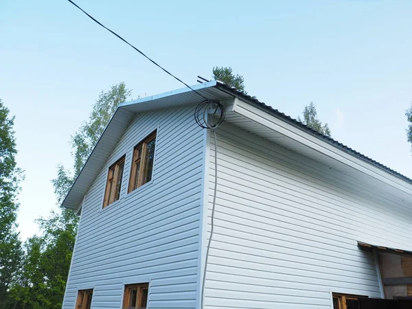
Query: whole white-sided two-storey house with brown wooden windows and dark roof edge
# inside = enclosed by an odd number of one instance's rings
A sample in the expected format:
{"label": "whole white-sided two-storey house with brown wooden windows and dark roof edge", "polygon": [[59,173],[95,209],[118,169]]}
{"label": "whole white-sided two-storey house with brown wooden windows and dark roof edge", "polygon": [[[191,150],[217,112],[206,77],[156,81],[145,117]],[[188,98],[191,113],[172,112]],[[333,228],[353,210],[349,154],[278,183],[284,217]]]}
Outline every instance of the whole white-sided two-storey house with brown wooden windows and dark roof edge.
{"label": "whole white-sided two-storey house with brown wooden windows and dark roof edge", "polygon": [[[411,179],[225,84],[194,90],[113,115],[62,203],[80,214],[62,308],[403,306]],[[225,107],[216,130],[200,95]]]}

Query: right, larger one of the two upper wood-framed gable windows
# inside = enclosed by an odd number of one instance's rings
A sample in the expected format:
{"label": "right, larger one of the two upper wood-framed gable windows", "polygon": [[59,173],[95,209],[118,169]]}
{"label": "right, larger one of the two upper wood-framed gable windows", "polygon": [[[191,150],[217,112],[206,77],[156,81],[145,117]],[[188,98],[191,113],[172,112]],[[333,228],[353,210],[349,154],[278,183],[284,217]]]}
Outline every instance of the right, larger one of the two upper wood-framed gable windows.
{"label": "right, larger one of the two upper wood-framed gable windows", "polygon": [[152,180],[153,162],[155,161],[156,131],[133,149],[132,170],[128,192]]}

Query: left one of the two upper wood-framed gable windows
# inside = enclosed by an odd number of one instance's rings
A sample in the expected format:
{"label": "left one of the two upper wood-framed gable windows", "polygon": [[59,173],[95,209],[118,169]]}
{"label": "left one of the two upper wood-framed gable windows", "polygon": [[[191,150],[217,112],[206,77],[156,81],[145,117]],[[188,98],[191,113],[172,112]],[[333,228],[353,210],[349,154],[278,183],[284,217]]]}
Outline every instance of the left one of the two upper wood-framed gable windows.
{"label": "left one of the two upper wood-framed gable windows", "polygon": [[117,201],[120,197],[120,189],[122,189],[122,176],[124,170],[123,156],[116,163],[108,168],[106,191],[104,192],[103,208]]}

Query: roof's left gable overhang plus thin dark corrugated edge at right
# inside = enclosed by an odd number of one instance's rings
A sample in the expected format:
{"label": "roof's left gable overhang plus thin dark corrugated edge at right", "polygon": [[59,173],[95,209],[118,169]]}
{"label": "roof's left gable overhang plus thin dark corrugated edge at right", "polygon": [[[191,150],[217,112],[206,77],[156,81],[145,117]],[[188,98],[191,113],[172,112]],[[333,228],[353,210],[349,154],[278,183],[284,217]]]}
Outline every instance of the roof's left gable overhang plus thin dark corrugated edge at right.
{"label": "roof's left gable overhang plus thin dark corrugated edge at right", "polygon": [[293,119],[292,117],[279,112],[277,109],[264,104],[255,98],[252,98],[250,95],[245,95],[244,93],[233,89],[222,82],[213,80],[203,84],[196,84],[192,87],[192,89],[196,90],[197,93],[189,88],[183,88],[120,104],[110,122],[106,126],[104,133],[98,140],[98,143],[95,145],[95,148],[93,148],[91,155],[87,159],[86,163],[84,163],[82,170],[78,174],[71,189],[69,190],[69,193],[62,203],[62,207],[77,209],[80,206],[82,203],[82,198],[93,184],[93,181],[102,170],[120,137],[122,137],[124,131],[128,127],[128,124],[130,124],[137,113],[159,108],[171,108],[185,104],[197,104],[198,102],[203,101],[203,98],[201,98],[198,93],[204,95],[210,100],[218,101],[239,98],[248,104],[260,108],[262,111],[281,119],[283,122],[291,124],[296,128],[303,130],[305,133],[309,133],[310,135],[317,137],[317,139],[321,139],[322,141],[339,148],[339,150],[342,150],[353,157],[366,161],[367,163],[376,166],[376,168],[379,168],[380,170],[412,184],[412,180],[406,176],[387,168],[387,166],[382,165],[381,163],[374,161],[359,152],[356,152],[352,148],[339,143],[339,141],[335,141],[330,137],[317,133],[317,131],[312,130],[312,128],[298,122],[296,119]]}

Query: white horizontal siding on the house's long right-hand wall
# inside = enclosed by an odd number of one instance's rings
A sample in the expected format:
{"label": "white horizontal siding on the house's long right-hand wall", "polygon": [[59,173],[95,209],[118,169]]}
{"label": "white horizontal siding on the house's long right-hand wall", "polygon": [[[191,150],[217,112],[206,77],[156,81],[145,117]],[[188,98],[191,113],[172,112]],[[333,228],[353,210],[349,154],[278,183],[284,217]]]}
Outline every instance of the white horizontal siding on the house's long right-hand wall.
{"label": "white horizontal siding on the house's long right-hand wall", "polygon": [[[332,291],[380,297],[374,257],[357,241],[410,247],[405,205],[235,126],[216,134],[205,308],[325,309]],[[213,138],[209,146],[210,224]]]}

